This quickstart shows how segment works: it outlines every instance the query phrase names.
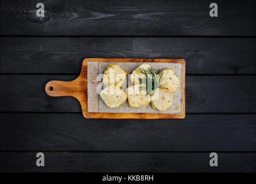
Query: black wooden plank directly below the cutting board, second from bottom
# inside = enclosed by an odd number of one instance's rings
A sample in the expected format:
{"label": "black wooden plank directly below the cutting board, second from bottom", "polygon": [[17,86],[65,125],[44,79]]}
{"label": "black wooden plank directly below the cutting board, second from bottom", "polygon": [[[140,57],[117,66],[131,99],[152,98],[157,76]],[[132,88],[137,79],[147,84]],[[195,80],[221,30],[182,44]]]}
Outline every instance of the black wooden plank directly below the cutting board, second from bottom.
{"label": "black wooden plank directly below the cutting board, second from bottom", "polygon": [[0,151],[256,151],[256,114],[120,121],[78,113],[1,113],[0,118]]}

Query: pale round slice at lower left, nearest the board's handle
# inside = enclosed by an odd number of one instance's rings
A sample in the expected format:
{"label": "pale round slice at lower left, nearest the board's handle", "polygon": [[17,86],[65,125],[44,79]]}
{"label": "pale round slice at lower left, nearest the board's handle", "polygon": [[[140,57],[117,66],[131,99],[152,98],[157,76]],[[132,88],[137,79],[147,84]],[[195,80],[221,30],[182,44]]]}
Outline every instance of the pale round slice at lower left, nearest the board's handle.
{"label": "pale round slice at lower left, nearest the board's handle", "polygon": [[124,104],[127,99],[127,95],[121,87],[116,84],[107,86],[101,91],[100,96],[109,108],[118,108],[120,105]]}

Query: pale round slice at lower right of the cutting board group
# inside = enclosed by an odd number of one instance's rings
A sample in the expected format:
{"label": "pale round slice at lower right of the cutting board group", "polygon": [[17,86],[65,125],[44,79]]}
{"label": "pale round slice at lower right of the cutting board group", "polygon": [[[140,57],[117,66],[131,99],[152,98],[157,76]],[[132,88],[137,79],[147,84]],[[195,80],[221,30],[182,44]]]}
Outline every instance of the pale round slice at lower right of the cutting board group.
{"label": "pale round slice at lower right of the cutting board group", "polygon": [[[156,93],[156,92],[155,92]],[[172,106],[172,93],[167,88],[159,88],[159,96],[157,99],[151,101],[152,108],[164,111]]]}

